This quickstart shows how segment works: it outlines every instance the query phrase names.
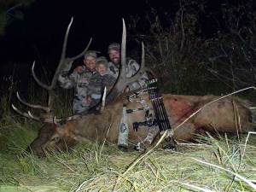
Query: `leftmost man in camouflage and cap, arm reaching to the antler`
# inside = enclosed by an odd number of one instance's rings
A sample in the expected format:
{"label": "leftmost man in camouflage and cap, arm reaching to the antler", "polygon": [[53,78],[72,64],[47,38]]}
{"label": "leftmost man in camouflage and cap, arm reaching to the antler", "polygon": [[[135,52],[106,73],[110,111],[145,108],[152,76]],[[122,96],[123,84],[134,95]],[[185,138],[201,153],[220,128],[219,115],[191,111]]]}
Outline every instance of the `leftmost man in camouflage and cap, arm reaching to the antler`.
{"label": "leftmost man in camouflage and cap, arm reaching to the antler", "polygon": [[76,67],[69,74],[72,65],[68,65],[58,78],[62,88],[74,88],[73,113],[88,113],[90,103],[87,102],[87,91],[90,77],[96,73],[96,51],[88,50],[84,54],[83,65]]}

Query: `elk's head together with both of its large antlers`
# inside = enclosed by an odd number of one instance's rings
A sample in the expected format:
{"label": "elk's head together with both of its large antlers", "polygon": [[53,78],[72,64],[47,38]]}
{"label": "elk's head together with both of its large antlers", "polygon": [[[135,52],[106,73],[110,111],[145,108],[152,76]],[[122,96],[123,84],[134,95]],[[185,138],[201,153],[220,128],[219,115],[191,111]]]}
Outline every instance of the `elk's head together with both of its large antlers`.
{"label": "elk's head together with both of its large antlers", "polygon": [[[38,137],[29,146],[29,148],[31,148],[32,151],[35,152],[35,154],[38,154],[39,156],[43,156],[45,154],[44,153],[45,151],[66,150],[68,147],[72,146],[74,143],[77,143],[80,140],[79,127],[81,127],[82,125],[84,126],[84,124],[86,124],[86,121],[88,122],[88,120],[90,121],[90,123],[93,122],[93,120],[91,119],[94,119],[96,116],[98,116],[96,114],[91,113],[86,117],[81,115],[73,115],[65,119],[55,118],[53,103],[54,103],[54,96],[55,96],[54,90],[56,87],[58,76],[60,75],[61,70],[65,67],[65,65],[71,65],[74,60],[84,55],[85,51],[90,46],[90,43],[89,43],[87,47],[84,49],[84,51],[77,56],[74,56],[72,58],[66,57],[67,37],[68,37],[68,33],[70,31],[70,27],[72,23],[73,23],[73,20],[71,20],[71,22],[67,26],[67,32],[64,38],[64,44],[63,44],[62,53],[61,53],[61,60],[59,61],[58,67],[55,70],[55,75],[50,85],[43,84],[37,78],[34,72],[35,62],[32,65],[33,78],[41,87],[43,87],[49,93],[48,106],[44,107],[41,105],[34,105],[31,103],[28,103],[22,100],[19,94],[17,93],[17,97],[22,104],[30,108],[38,108],[43,110],[44,116],[37,117],[33,115],[30,111],[28,111],[27,113],[23,113],[18,108],[15,108],[14,105],[12,105],[12,107],[15,109],[17,113],[20,113],[26,118],[38,120],[44,123],[44,126],[39,131]],[[91,39],[90,39],[90,42],[91,42]],[[125,29],[125,21],[123,20],[123,35],[122,35],[122,45],[121,45],[121,64],[119,69],[119,78],[114,84],[113,90],[108,94],[106,102],[113,101],[114,98],[116,98],[121,93],[123,93],[123,90],[125,89],[127,84],[130,84],[131,82],[137,80],[142,73],[146,72],[146,70],[149,71],[149,69],[146,69],[145,67],[144,49],[142,49],[142,63],[139,71],[131,78],[126,78],[125,76],[125,66],[126,66],[125,43],[126,43],[126,29]],[[102,102],[102,107],[104,106],[105,106],[105,102]],[[102,109],[101,109],[101,112],[102,112]],[[100,115],[106,115],[106,113],[105,114],[102,113]],[[102,118],[97,118],[97,119],[102,120]],[[103,123],[104,122],[102,121],[102,124]]]}

